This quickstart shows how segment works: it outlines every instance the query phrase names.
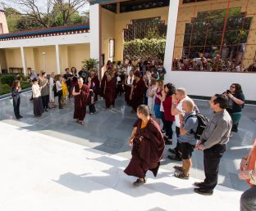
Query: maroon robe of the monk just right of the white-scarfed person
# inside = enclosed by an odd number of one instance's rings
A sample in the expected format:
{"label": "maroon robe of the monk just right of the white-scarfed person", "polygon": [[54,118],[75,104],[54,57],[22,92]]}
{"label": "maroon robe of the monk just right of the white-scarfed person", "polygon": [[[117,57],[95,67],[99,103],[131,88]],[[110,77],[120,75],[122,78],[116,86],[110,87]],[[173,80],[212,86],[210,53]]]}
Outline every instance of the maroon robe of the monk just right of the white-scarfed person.
{"label": "maroon robe of the monk just right of the white-scarfed person", "polygon": [[144,92],[146,90],[146,84],[144,83],[143,79],[139,79],[138,82],[134,80],[133,85],[134,90],[131,97],[131,106],[136,112],[138,106],[144,104]]}

